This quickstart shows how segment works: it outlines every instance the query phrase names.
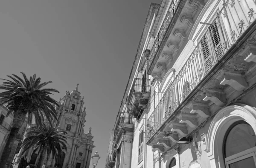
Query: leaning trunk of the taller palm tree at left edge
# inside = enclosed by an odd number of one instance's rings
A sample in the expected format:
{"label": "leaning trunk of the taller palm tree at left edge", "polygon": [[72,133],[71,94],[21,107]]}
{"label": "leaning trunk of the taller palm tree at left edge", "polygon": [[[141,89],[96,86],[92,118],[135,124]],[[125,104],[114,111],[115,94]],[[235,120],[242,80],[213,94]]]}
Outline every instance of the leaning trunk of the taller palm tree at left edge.
{"label": "leaning trunk of the taller palm tree at left edge", "polygon": [[9,134],[9,137],[7,139],[6,145],[3,149],[3,153],[2,153],[2,156],[0,159],[0,168],[6,168],[7,160],[12,151],[12,146],[15,142],[16,136],[17,136],[25,118],[26,118],[26,113],[24,113],[24,112],[17,111],[14,113],[11,132]]}

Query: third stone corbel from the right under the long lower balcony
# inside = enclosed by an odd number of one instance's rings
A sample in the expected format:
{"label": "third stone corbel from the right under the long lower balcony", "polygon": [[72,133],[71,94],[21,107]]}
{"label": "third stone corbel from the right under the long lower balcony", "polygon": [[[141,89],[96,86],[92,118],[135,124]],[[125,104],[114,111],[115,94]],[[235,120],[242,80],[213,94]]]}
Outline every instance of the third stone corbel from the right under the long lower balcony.
{"label": "third stone corbel from the right under the long lower balcony", "polygon": [[225,106],[227,103],[226,96],[221,90],[204,89],[204,101],[212,101],[219,107]]}

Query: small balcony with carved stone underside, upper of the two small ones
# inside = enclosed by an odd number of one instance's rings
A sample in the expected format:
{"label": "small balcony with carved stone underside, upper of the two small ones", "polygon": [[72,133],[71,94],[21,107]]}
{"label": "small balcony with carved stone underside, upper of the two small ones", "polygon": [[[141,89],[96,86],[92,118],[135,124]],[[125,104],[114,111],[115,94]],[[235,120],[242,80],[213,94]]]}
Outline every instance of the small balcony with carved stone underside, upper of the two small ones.
{"label": "small balcony with carved stone underside, upper of the two small ones", "polygon": [[127,112],[134,118],[140,118],[140,115],[148,104],[150,96],[150,80],[135,78],[131,87],[130,94],[126,98]]}

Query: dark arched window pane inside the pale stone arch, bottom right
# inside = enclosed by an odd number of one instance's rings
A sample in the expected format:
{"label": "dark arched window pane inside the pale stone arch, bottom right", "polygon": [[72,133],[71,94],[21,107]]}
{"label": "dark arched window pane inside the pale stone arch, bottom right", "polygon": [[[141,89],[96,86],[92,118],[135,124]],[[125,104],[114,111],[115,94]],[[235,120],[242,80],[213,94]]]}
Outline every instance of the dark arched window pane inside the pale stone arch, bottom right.
{"label": "dark arched window pane inside the pale stone arch, bottom right", "polygon": [[233,123],[224,138],[226,168],[256,168],[256,136],[245,121]]}

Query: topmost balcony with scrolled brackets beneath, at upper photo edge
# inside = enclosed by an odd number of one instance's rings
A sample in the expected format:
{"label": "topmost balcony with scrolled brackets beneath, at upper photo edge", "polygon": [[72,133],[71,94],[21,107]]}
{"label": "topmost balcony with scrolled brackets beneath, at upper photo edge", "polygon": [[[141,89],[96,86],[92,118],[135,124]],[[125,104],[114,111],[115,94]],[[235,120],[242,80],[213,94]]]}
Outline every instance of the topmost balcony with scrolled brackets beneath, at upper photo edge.
{"label": "topmost balcony with scrolled brackets beneath, at upper photo edge", "polygon": [[147,60],[148,75],[161,81],[172,60],[188,42],[189,34],[208,0],[170,0]]}

